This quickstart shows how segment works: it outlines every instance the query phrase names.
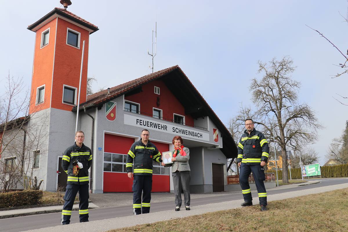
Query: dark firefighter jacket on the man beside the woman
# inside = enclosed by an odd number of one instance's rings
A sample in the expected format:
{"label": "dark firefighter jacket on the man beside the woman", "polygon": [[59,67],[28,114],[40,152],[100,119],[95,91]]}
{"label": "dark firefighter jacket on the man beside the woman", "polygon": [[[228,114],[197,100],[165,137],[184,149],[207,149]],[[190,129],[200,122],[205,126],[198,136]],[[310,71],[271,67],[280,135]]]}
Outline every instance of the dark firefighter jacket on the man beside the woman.
{"label": "dark firefighter jacket on the man beside the woman", "polygon": [[148,144],[145,145],[140,139],[132,144],[127,154],[127,173],[132,172],[133,161],[134,175],[152,175],[152,162],[162,162],[161,153],[153,143],[149,141]]}

